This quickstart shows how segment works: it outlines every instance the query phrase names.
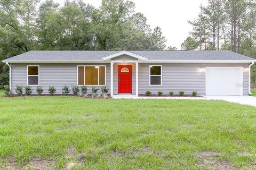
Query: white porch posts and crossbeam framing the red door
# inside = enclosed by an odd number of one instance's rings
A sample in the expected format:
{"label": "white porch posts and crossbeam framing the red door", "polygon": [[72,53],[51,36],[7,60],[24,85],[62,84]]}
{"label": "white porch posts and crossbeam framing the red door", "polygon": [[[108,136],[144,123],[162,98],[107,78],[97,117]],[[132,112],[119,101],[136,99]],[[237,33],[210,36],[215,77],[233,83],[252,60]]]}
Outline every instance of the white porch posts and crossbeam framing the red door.
{"label": "white porch posts and crossbeam framing the red door", "polygon": [[114,90],[114,63],[135,63],[136,65],[136,96],[139,96],[139,61],[138,60],[111,60],[110,62],[110,96],[113,97]]}

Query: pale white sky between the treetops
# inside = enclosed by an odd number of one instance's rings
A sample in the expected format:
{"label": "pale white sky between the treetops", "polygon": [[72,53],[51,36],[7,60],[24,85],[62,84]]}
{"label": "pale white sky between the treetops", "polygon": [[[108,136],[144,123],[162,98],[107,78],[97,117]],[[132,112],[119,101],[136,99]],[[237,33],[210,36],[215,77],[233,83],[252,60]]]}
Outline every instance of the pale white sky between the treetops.
{"label": "pale white sky between the treetops", "polygon": [[[63,5],[64,0],[54,0]],[[135,12],[143,13],[153,30],[160,27],[167,39],[166,48],[175,46],[181,49],[181,43],[189,36],[193,27],[188,20],[197,18],[200,4],[207,0],[130,0],[135,3]],[[101,0],[84,0],[94,7],[101,5]]]}

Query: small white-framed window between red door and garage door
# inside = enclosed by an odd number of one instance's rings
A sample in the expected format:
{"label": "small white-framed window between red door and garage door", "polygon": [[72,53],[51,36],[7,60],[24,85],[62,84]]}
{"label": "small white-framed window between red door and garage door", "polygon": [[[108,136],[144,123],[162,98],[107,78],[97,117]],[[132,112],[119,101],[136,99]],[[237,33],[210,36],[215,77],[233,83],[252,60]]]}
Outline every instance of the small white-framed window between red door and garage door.
{"label": "small white-framed window between red door and garage door", "polygon": [[149,66],[149,85],[161,86],[162,85],[162,65],[150,65]]}

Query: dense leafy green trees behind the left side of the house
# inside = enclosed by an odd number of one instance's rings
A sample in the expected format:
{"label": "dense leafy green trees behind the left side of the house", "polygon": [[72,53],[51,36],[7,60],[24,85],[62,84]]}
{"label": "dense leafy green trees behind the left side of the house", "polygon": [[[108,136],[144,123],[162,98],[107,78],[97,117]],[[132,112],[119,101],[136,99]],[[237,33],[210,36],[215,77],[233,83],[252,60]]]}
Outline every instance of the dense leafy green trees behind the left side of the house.
{"label": "dense leafy green trees behind the left side of the house", "polygon": [[[30,50],[163,50],[161,28],[125,0],[102,0],[95,8],[82,0],[0,0],[0,60]],[[0,82],[9,72],[1,63]]]}

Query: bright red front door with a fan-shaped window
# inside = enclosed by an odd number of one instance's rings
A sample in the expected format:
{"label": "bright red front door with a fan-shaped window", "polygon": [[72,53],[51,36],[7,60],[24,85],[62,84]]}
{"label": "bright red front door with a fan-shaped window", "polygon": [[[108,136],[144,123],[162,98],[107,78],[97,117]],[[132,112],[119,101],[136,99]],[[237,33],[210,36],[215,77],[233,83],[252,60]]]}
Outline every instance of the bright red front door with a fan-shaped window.
{"label": "bright red front door with a fan-shaped window", "polygon": [[118,65],[118,94],[132,93],[132,66]]}

